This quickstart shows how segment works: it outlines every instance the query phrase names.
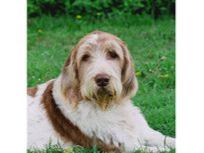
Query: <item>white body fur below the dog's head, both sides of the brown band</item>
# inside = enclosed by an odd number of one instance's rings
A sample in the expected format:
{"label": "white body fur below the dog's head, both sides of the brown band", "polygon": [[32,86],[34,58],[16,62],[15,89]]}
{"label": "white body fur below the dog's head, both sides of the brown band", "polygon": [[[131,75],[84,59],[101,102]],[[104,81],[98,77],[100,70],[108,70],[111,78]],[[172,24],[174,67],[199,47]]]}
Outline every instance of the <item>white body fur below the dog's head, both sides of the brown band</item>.
{"label": "white body fur below the dog's head, both sides of the brown band", "polygon": [[[174,138],[166,137],[151,129],[137,107],[128,99],[120,105],[112,105],[108,110],[101,110],[96,103],[80,101],[77,109],[73,109],[68,101],[64,101],[60,89],[61,78],[54,82],[53,96],[62,113],[80,130],[90,136],[96,136],[115,146],[122,144],[126,152],[135,149],[146,151],[164,151],[175,147]],[[28,96],[28,148],[42,148],[51,141],[64,143],[59,139],[48,120],[40,101],[48,82],[38,86],[36,97]]]}

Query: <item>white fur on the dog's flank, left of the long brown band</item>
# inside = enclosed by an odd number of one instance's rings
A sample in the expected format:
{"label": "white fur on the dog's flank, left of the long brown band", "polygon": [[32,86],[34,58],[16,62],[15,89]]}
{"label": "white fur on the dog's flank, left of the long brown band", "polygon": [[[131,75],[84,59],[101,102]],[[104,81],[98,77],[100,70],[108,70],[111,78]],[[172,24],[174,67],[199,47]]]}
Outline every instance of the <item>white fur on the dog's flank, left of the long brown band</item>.
{"label": "white fur on the dog's flank, left of the long brown band", "polygon": [[28,148],[43,148],[50,141],[52,143],[63,142],[58,138],[50,121],[47,118],[45,109],[41,104],[42,94],[45,91],[50,81],[38,86],[38,91],[35,97],[28,96],[28,111],[27,111],[27,130],[28,130]]}

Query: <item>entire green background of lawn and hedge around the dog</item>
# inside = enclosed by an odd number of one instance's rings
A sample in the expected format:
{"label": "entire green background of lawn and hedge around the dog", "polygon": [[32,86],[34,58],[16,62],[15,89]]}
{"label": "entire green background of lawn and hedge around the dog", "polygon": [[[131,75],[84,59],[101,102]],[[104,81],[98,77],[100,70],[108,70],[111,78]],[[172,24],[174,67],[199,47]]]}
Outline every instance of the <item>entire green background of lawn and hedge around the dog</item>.
{"label": "entire green background of lawn and hedge around the dog", "polygon": [[[174,0],[28,0],[27,6],[28,86],[56,78],[84,35],[110,32],[126,42],[134,60],[139,90],[133,103],[152,128],[175,137]],[[47,146],[28,152],[64,151]]]}

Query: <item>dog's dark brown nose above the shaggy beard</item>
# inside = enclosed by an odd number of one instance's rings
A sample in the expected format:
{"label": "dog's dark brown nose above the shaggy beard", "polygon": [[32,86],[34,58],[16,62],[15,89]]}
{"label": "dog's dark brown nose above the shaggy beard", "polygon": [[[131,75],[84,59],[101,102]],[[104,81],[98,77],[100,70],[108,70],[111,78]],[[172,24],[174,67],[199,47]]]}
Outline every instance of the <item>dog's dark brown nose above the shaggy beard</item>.
{"label": "dog's dark brown nose above the shaggy beard", "polygon": [[109,83],[109,80],[110,80],[110,76],[105,73],[97,74],[95,77],[96,84],[99,87],[107,86]]}

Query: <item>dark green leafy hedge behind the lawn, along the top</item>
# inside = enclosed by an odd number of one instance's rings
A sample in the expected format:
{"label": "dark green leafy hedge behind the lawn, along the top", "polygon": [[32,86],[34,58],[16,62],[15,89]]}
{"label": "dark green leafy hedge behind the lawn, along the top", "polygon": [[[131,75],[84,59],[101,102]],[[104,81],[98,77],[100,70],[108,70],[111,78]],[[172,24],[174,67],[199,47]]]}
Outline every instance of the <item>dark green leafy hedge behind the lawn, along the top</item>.
{"label": "dark green leafy hedge behind the lawn, along the top", "polygon": [[29,17],[66,14],[102,18],[123,13],[153,18],[175,15],[175,0],[28,0]]}

